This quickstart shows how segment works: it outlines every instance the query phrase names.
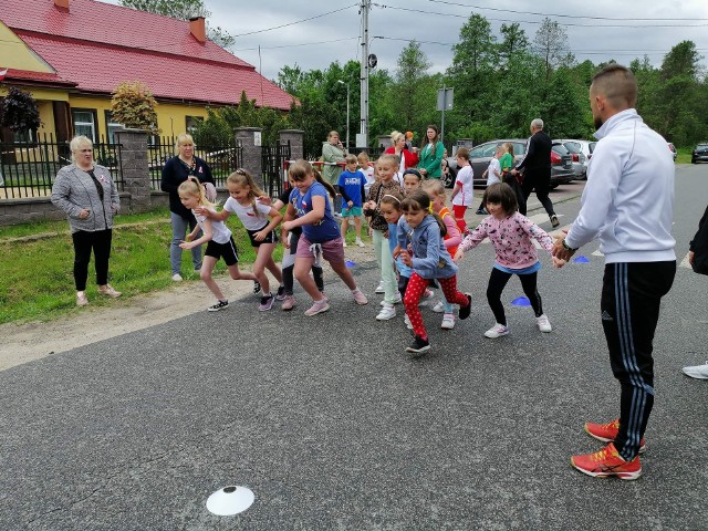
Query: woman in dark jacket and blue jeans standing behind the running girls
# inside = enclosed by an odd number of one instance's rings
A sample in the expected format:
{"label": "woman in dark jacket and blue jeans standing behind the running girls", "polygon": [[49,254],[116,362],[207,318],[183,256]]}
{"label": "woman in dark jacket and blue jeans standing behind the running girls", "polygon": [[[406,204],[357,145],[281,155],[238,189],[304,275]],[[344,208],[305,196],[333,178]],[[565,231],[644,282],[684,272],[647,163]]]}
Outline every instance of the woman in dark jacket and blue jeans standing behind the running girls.
{"label": "woman in dark jacket and blue jeans standing behind the running girls", "polygon": [[[173,240],[169,244],[169,262],[173,271],[173,281],[180,282],[181,279],[181,248],[179,243],[185,236],[194,230],[197,220],[191,210],[186,208],[179,200],[177,188],[189,176],[197,177],[201,184],[211,183],[211,169],[201,158],[195,156],[195,140],[191,135],[183,133],[175,142],[177,156],[169,158],[163,168],[163,178],[159,185],[160,190],[169,194],[169,217],[173,223]],[[201,246],[191,248],[191,263],[195,271],[201,269]]]}

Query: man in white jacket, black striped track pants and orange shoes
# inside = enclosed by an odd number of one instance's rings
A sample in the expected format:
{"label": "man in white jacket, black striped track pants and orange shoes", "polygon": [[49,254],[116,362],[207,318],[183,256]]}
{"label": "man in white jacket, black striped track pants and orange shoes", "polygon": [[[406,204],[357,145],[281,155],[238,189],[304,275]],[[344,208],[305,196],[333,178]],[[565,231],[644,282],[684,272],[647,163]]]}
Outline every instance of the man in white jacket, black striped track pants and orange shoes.
{"label": "man in white jacket, black striped track pants and orange shoes", "polygon": [[589,476],[621,479],[642,473],[638,452],[654,404],[654,332],[676,274],[674,160],[666,140],[634,110],[636,101],[628,69],[611,64],[593,76],[590,106],[598,142],[577,219],[553,247],[554,257],[568,260],[597,236],[605,256],[601,319],[622,391],[620,418],[586,423],[585,431],[608,445],[571,462]]}

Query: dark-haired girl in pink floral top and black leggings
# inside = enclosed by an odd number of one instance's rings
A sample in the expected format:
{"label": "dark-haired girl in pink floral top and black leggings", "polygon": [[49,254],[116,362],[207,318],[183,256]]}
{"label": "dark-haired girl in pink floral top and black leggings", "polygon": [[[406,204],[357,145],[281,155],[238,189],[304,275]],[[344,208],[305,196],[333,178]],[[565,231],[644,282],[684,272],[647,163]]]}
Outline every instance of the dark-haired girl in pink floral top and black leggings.
{"label": "dark-haired girl in pink floral top and black leggings", "polygon": [[[543,313],[541,295],[537,289],[538,271],[541,262],[532,240],[537,240],[549,254],[553,250],[553,240],[538,225],[517,211],[517,196],[509,185],[497,183],[485,190],[485,205],[490,216],[462,240],[455,261],[461,260],[465,252],[473,249],[485,238],[489,238],[497,253],[494,267],[489,277],[487,301],[497,322],[485,332],[490,339],[509,333],[501,293],[512,274],[519,277],[523,292],[531,301],[535,314],[535,324],[541,332],[551,332],[549,317]],[[553,258],[553,266],[565,263]]]}

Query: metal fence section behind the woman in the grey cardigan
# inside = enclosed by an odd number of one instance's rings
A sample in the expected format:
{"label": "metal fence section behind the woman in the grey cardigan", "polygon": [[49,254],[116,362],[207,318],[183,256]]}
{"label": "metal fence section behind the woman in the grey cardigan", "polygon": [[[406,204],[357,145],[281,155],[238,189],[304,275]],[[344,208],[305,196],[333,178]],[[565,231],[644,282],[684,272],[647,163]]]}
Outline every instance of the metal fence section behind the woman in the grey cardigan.
{"label": "metal fence section behind the woman in the grey cardigan", "polygon": [[[105,137],[93,145],[94,159],[111,170],[118,190],[123,190],[121,145]],[[0,199],[48,197],[56,173],[71,164],[69,142],[55,142],[44,135],[35,142],[0,143]]]}

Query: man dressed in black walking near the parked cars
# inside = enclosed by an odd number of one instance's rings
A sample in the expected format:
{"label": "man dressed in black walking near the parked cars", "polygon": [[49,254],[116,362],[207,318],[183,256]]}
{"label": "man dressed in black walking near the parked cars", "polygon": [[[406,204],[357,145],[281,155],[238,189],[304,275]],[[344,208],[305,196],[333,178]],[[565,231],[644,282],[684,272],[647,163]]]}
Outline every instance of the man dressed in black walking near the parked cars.
{"label": "man dressed in black walking near the parked cars", "polygon": [[[519,171],[525,169],[521,190],[525,199],[529,199],[531,192],[535,189],[535,197],[539,198],[543,208],[551,219],[551,225],[558,227],[560,225],[558,216],[553,211],[553,204],[549,198],[551,190],[551,137],[543,131],[543,121],[535,118],[531,122],[531,138],[529,138],[529,147],[523,159],[511,170],[514,177]],[[525,205],[521,214],[525,216]]]}

